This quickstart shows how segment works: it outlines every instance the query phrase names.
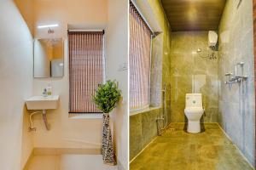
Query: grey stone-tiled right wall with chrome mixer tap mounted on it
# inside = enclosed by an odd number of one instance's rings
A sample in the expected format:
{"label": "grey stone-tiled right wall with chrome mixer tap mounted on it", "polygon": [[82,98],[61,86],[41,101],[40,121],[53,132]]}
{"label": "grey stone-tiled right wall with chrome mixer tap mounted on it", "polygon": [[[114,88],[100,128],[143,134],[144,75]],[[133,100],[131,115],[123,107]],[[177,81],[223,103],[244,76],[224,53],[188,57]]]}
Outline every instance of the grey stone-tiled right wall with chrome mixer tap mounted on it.
{"label": "grey stone-tiled right wall with chrome mixer tap mounted on it", "polygon": [[[251,164],[254,164],[255,97],[253,1],[227,0],[219,30],[219,122]],[[224,84],[226,72],[245,62],[248,79]]]}

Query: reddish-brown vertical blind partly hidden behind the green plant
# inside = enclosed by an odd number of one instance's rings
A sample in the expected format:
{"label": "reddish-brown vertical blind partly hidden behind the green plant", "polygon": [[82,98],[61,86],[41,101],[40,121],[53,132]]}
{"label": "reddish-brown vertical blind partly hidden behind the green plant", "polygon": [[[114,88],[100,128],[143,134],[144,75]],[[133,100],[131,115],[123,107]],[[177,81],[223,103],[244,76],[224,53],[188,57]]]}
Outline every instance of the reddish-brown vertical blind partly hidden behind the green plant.
{"label": "reddish-brown vertical blind partly hidden behind the green plant", "polygon": [[69,112],[101,112],[92,102],[103,81],[103,31],[68,31]]}

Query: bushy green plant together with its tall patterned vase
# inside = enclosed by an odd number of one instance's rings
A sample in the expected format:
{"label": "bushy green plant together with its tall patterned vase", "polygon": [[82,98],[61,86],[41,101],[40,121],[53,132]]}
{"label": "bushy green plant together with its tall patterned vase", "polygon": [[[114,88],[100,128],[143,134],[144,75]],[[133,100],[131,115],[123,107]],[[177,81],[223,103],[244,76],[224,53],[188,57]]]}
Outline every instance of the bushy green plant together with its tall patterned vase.
{"label": "bushy green plant together with its tall patterned vase", "polygon": [[109,127],[109,112],[113,111],[119,99],[121,91],[115,81],[108,80],[99,85],[96,94],[92,97],[97,108],[103,112],[103,133],[102,133],[102,156],[103,162],[109,165],[115,165],[113,142],[111,130]]}

